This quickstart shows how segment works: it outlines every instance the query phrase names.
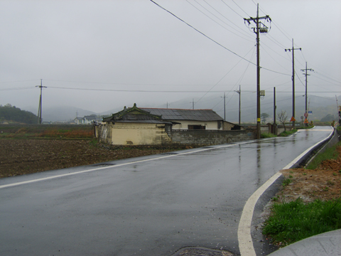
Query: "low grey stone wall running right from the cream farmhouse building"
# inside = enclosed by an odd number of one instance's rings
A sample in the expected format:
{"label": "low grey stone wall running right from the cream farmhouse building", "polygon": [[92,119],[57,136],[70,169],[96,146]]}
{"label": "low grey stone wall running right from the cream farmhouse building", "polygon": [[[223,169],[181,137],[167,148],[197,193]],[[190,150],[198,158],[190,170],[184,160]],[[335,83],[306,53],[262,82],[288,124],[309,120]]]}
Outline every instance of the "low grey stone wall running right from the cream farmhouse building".
{"label": "low grey stone wall running right from the cream farmhouse building", "polygon": [[254,133],[249,129],[237,131],[172,130],[167,133],[174,144],[217,145],[255,139]]}

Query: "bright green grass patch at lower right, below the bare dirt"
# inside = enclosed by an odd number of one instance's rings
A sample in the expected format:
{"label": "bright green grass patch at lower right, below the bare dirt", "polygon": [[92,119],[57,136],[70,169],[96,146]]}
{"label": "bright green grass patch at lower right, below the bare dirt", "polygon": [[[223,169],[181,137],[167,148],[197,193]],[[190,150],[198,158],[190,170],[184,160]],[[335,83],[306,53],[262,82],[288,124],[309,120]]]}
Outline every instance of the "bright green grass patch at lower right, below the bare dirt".
{"label": "bright green grass patch at lower right, below the bare dirt", "polygon": [[313,235],[341,228],[341,199],[303,203],[275,203],[263,234],[274,242],[288,245]]}

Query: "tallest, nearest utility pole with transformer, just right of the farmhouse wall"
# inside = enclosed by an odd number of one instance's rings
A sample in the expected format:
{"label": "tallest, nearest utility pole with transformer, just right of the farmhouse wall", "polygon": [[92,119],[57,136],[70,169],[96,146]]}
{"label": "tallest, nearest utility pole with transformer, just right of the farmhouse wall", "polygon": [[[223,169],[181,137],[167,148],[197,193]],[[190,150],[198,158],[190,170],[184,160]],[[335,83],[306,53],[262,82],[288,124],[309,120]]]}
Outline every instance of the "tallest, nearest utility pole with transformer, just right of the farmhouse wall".
{"label": "tallest, nearest utility pole with transformer, just right of the farmhouse wall", "polygon": [[250,21],[254,21],[256,23],[256,27],[254,27],[254,33],[256,33],[256,47],[257,47],[257,132],[256,138],[261,139],[261,66],[259,65],[259,33],[267,33],[268,27],[265,26],[264,23],[260,22],[260,20],[266,20],[271,22],[271,18],[269,15],[259,17],[259,4],[257,4],[257,17],[256,18],[244,18],[244,22],[247,21],[249,26],[251,25]]}

